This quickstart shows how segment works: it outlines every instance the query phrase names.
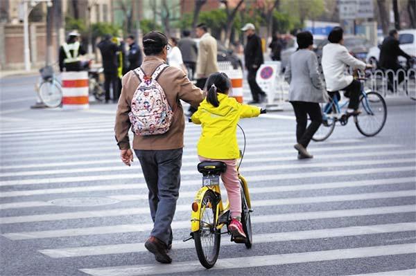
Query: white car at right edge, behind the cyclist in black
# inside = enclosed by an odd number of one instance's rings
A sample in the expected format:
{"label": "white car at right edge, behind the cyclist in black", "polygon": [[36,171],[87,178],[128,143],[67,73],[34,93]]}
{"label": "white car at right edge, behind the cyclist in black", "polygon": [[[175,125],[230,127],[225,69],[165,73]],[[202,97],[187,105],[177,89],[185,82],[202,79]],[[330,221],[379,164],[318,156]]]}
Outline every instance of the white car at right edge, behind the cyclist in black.
{"label": "white car at right edge, behind the cyclist in black", "polygon": [[[416,29],[399,30],[399,44],[401,50],[404,50],[408,55],[415,55]],[[365,59],[367,63],[378,66],[380,58],[380,47],[381,45],[370,48],[367,58]],[[406,58],[399,57],[399,62],[403,65],[406,64]]]}

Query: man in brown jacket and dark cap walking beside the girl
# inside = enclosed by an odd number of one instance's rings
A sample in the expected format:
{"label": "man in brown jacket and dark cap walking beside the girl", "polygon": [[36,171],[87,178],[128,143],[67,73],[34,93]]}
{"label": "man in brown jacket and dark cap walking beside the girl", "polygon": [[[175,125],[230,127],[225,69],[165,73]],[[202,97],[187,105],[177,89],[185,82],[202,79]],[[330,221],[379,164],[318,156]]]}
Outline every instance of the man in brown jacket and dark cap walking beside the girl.
{"label": "man in brown jacket and dark cap walking beside the girl", "polygon": [[[157,82],[158,87],[163,89],[162,93],[166,95],[168,105],[173,111],[171,125],[164,134],[135,135],[132,146],[139,158],[148,186],[150,214],[154,221],[153,230],[145,246],[155,255],[157,261],[168,264],[172,261],[167,251],[171,248],[173,239],[171,223],[179,196],[182,148],[184,147],[185,122],[180,100],[198,107],[204,97],[202,91],[192,84],[182,70],[174,66],[164,67],[168,53],[168,39],[164,34],[152,31],[144,35],[143,47],[146,55],[143,64],[123,77],[114,131],[121,150],[121,160],[125,165],[130,166],[133,154],[130,149],[128,131],[132,125],[129,117],[132,111],[132,99],[142,79],[149,85],[151,82]],[[142,95],[139,94],[136,97],[138,100]],[[143,106],[146,110],[141,109],[140,104],[137,104],[135,100],[135,111],[152,113],[150,112],[152,110],[149,110],[151,104],[143,103]],[[158,121],[157,118],[150,119],[152,122]],[[141,122],[147,123],[144,120]]]}

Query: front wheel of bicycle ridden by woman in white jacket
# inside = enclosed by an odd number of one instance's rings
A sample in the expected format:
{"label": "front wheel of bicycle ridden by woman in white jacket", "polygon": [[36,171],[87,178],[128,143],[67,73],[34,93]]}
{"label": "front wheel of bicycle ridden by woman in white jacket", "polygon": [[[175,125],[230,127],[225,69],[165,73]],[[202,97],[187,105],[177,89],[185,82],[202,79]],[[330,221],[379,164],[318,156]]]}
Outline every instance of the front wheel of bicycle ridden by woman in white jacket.
{"label": "front wheel of bicycle ridden by woman in white jacket", "polygon": [[387,119],[387,107],[383,97],[374,91],[361,95],[361,113],[354,118],[358,131],[364,136],[375,136],[383,129]]}

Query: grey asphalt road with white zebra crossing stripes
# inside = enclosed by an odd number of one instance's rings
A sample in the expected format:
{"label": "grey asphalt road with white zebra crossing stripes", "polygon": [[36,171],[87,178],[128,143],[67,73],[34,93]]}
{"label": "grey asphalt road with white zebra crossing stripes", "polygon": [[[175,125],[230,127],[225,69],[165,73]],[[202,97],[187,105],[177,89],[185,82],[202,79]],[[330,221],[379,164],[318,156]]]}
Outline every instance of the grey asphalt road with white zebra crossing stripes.
{"label": "grey asphalt road with white zebra crossing stripes", "polygon": [[186,127],[173,264],[161,265],[144,249],[146,184],[137,159],[119,160],[115,104],[29,109],[35,80],[0,80],[0,275],[416,274],[416,102],[388,98],[379,135],[350,121],[311,142],[312,160],[296,158],[293,111],[241,120],[254,244],[223,236],[205,270],[182,242],[200,187],[199,127]]}

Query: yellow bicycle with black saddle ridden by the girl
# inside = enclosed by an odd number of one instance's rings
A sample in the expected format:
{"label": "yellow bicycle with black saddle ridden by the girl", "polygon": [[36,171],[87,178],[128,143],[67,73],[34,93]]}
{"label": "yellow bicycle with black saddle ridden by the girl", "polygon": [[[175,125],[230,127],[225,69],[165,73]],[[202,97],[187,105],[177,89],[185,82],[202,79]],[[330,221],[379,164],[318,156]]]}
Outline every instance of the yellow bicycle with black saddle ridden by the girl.
{"label": "yellow bicycle with black saddle ridden by the girl", "polygon": [[[240,126],[239,126],[240,127]],[[241,127],[240,127],[241,129]],[[243,131],[243,129],[241,129]],[[244,151],[245,151],[245,134]],[[241,154],[243,160],[244,151]],[[241,160],[238,169],[241,165]],[[230,234],[231,241],[245,243],[246,248],[252,246],[252,226],[250,213],[253,212],[250,203],[248,184],[239,173],[241,183],[241,224],[246,238],[233,237],[228,231],[221,232],[224,226],[231,222],[229,202],[223,203],[220,192],[220,175],[225,172],[226,165],[218,161],[205,161],[198,164],[198,172],[202,174],[202,187],[196,193],[192,203],[191,237],[195,241],[196,252],[202,266],[211,268],[215,265],[220,252],[221,234]]]}

